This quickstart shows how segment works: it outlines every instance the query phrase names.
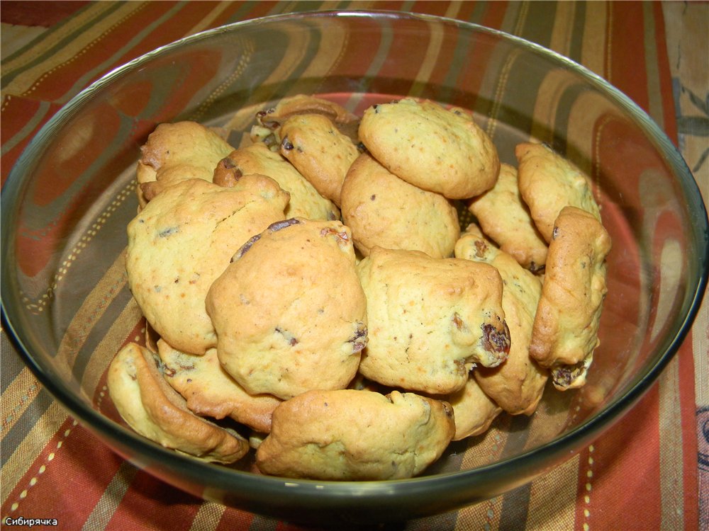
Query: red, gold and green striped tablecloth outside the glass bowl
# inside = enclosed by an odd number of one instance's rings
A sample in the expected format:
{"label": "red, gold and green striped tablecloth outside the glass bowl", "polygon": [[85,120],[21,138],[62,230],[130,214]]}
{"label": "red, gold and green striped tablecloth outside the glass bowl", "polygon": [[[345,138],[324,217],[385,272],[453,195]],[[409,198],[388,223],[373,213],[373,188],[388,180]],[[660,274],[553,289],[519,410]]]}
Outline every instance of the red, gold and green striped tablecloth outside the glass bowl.
{"label": "red, gold and green striped tablecloth outside the glass bowl", "polygon": [[[4,183],[40,127],[84,86],[160,45],[292,11],[376,8],[499,28],[600,74],[676,142],[709,193],[709,4],[680,2],[3,1]],[[1,509],[61,529],[297,530],[204,502],[113,454],[67,415],[2,334]],[[406,530],[709,529],[709,315],[621,423],[531,484]],[[9,527],[9,526],[7,526]]]}

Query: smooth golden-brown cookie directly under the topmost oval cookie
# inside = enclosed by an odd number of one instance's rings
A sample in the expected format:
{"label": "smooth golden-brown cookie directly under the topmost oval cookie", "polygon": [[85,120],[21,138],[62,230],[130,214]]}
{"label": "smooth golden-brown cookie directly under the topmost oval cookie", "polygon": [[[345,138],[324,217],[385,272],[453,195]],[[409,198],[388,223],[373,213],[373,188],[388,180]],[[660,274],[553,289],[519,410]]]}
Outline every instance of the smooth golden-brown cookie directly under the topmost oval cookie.
{"label": "smooth golden-brown cookie directly under the topmost oval cookie", "polygon": [[369,154],[360,155],[347,172],[341,205],[342,221],[364,256],[380,246],[447,258],[460,235],[449,200],[401,180]]}

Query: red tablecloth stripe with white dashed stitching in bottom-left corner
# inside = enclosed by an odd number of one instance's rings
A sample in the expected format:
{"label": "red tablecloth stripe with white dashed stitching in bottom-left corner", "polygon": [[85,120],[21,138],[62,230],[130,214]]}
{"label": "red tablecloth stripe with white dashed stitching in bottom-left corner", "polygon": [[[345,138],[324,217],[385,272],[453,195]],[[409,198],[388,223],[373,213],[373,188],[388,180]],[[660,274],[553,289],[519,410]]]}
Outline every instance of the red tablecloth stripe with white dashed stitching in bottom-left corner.
{"label": "red tablecloth stripe with white dashed stitching in bottom-left corner", "polygon": [[[56,518],[60,529],[81,529],[122,462],[69,418],[11,491],[3,517]],[[18,503],[15,510],[13,503]]]}

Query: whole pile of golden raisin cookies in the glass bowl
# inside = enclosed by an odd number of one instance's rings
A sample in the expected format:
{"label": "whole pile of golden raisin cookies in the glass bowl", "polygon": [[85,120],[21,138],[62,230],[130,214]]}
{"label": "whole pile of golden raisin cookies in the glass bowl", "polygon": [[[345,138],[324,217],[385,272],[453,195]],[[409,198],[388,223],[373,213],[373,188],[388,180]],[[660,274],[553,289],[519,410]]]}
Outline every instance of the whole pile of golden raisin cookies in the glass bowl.
{"label": "whole pile of golden raisin cookies in the glass bowl", "polygon": [[516,156],[413,98],[361,118],[286,98],[238,149],[159,125],[126,255],[150,333],[108,369],[118,412],[211,462],[253,448],[264,474],[396,479],[531,415],[547,379],[581,387],[610,238],[576,166]]}

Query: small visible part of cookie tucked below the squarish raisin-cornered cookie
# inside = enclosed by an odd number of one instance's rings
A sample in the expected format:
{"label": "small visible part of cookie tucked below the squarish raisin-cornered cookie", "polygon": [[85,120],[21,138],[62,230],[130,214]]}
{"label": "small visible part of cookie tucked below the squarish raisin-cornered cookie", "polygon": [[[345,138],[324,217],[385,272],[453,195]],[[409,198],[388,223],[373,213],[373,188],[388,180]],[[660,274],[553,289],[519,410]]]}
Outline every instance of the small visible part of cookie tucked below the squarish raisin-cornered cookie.
{"label": "small visible part of cookie tucked below the squarish raisin-cornered cookie", "polygon": [[[474,369],[474,371],[477,369]],[[480,388],[474,378],[468,378],[462,389],[442,396],[453,409],[455,434],[461,440],[485,433],[503,409]]]}

